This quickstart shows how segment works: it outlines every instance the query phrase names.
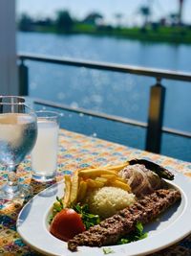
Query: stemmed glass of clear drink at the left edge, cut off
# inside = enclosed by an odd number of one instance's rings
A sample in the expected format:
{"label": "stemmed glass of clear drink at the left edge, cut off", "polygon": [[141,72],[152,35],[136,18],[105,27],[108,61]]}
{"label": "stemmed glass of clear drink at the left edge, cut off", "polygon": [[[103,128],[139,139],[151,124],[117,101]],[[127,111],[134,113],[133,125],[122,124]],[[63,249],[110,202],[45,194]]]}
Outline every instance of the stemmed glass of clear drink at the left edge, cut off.
{"label": "stemmed glass of clear drink at the left edge, cut off", "polygon": [[[8,182],[0,198],[25,198],[18,184],[17,166],[32,151],[37,137],[36,115],[19,97],[0,97],[0,164],[8,170]],[[27,192],[27,191],[26,191]]]}

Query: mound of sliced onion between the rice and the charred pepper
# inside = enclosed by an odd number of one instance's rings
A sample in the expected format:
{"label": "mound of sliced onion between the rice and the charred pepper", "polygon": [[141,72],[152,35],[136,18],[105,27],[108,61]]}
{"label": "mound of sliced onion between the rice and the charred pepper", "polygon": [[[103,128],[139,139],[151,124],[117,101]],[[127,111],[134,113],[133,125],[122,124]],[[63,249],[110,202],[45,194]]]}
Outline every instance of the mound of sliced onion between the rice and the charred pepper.
{"label": "mound of sliced onion between the rice and the charred pepper", "polygon": [[140,164],[129,165],[122,169],[118,175],[127,181],[137,197],[150,194],[164,186],[159,175]]}

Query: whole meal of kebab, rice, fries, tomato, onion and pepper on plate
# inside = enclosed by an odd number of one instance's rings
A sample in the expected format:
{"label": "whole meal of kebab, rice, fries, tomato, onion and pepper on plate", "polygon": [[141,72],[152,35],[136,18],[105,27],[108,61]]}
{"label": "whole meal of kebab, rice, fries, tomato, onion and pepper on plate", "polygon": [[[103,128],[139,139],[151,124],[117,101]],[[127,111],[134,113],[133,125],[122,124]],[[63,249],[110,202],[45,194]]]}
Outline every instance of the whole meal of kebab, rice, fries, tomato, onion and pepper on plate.
{"label": "whole meal of kebab, rice, fries, tomato, onion and pepper on plate", "polygon": [[[51,233],[77,245],[125,244],[146,237],[142,224],[180,199],[162,178],[172,180],[168,170],[145,159],[117,166],[90,167],[65,175],[63,198],[56,198]],[[125,236],[125,237],[124,237]]]}

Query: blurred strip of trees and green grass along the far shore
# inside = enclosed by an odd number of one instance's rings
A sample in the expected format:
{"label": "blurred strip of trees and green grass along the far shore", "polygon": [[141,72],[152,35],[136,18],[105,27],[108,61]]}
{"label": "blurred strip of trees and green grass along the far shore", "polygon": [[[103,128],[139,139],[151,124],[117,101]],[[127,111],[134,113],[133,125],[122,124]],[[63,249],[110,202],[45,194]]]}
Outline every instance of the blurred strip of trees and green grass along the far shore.
{"label": "blurred strip of trees and green grass along the far shore", "polygon": [[122,27],[103,24],[102,16],[90,13],[84,20],[73,19],[69,12],[57,12],[56,18],[32,19],[22,14],[18,20],[18,30],[22,32],[53,33],[63,35],[107,35],[141,41],[191,43],[191,26],[183,24],[148,23],[142,27]]}

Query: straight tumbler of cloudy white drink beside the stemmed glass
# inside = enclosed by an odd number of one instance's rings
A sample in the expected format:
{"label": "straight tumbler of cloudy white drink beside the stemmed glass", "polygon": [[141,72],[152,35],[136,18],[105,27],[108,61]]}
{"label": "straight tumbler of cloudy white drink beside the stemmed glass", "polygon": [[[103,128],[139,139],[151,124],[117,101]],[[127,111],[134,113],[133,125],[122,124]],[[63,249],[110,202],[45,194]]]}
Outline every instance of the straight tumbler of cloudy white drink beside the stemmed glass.
{"label": "straight tumbler of cloudy white drink beside the stemmed glass", "polygon": [[32,178],[49,181],[57,169],[59,115],[53,111],[36,112],[38,135],[32,150]]}

